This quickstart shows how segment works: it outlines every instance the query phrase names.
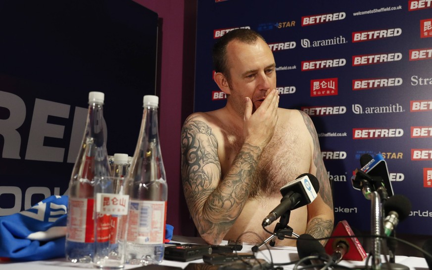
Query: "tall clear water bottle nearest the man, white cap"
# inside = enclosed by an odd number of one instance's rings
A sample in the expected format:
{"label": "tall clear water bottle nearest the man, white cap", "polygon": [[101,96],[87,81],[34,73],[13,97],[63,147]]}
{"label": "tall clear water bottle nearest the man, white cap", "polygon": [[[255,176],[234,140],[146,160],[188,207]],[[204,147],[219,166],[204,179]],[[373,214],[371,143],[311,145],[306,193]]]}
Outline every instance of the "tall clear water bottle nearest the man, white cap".
{"label": "tall clear water bottle nearest the man, white cap", "polygon": [[126,260],[159,264],[164,255],[168,188],[160,151],[157,96],[144,96],[144,113],[134,158],[125,182],[129,195]]}

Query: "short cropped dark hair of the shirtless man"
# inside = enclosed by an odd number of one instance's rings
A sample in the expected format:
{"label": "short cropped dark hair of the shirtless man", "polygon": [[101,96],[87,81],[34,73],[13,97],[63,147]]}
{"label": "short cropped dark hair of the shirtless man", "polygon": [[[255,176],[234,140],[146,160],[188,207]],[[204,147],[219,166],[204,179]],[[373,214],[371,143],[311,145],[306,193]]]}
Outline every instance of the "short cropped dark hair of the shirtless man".
{"label": "short cropped dark hair of the shirtless man", "polygon": [[255,44],[258,39],[265,39],[257,32],[239,28],[228,32],[219,38],[213,46],[213,68],[215,72],[222,73],[229,79],[228,72],[228,59],[227,59],[227,45],[232,40],[239,40],[246,44]]}

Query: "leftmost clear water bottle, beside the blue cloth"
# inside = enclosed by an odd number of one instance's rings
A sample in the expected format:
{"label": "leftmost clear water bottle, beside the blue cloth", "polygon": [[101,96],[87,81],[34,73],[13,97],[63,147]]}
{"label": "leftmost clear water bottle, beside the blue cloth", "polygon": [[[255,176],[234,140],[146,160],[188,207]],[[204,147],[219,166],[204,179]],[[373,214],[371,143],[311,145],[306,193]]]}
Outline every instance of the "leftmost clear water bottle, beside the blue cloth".
{"label": "leftmost clear water bottle, beside the blue cloth", "polygon": [[65,254],[73,263],[91,263],[95,254],[96,176],[110,176],[103,119],[104,93],[89,93],[86,129],[69,182]]}

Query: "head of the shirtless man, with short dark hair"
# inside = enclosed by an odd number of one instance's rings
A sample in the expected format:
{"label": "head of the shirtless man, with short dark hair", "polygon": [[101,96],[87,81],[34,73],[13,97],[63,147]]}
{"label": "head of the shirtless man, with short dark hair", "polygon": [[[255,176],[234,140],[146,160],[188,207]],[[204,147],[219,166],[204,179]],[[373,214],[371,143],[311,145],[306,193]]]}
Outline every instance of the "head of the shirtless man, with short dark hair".
{"label": "head of the shirtless man, with short dark hair", "polygon": [[218,40],[213,49],[215,82],[227,94],[227,107],[244,114],[245,97],[254,112],[276,88],[273,52],[258,33],[236,29]]}

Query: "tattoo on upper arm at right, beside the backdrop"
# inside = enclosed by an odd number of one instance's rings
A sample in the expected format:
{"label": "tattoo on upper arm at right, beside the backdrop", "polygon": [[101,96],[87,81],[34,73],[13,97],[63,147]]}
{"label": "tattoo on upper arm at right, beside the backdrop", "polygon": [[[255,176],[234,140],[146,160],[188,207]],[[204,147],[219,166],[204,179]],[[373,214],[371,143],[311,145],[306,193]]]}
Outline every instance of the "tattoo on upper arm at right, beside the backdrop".
{"label": "tattoo on upper arm at right, beside the backdrop", "polygon": [[313,162],[315,164],[315,167],[317,168],[316,177],[320,181],[320,191],[321,197],[323,198],[323,201],[330,207],[330,209],[333,210],[333,197],[332,197],[332,191],[330,187],[330,181],[329,177],[326,171],[326,168],[324,166],[323,158],[321,157],[321,151],[320,151],[320,143],[318,141],[317,131],[315,130],[315,126],[311,120],[311,118],[304,113],[303,111],[300,111],[301,116],[303,116],[304,123],[306,124],[307,129],[309,130],[309,133],[313,140]]}

